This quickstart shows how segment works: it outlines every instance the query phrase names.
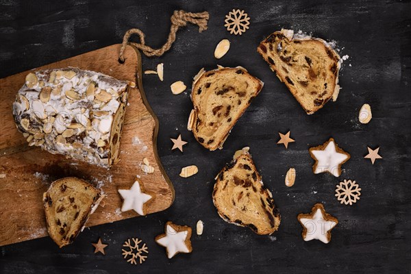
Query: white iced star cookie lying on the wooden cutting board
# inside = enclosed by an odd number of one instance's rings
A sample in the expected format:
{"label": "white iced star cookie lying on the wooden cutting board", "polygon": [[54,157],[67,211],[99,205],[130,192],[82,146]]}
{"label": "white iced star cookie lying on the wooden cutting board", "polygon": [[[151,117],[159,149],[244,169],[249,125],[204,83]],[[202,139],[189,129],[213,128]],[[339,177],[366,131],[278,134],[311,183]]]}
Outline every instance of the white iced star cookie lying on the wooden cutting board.
{"label": "white iced star cookie lying on the wooden cutting board", "polygon": [[138,181],[134,182],[132,188],[119,189],[121,197],[123,197],[123,206],[121,211],[134,210],[139,215],[145,215],[147,212],[147,201],[153,198],[153,195],[145,193],[144,188],[140,186]]}

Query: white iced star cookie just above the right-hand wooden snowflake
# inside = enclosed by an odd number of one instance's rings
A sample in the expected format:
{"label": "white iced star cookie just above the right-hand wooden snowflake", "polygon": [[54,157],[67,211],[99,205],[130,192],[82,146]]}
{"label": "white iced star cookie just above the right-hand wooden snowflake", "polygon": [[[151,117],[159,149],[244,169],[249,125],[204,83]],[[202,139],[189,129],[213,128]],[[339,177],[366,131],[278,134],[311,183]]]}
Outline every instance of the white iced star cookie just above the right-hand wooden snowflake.
{"label": "white iced star cookie just above the right-hand wooden snowflake", "polygon": [[318,147],[310,148],[310,155],[315,160],[312,171],[314,174],[328,172],[338,177],[341,175],[341,165],[351,157],[340,149],[333,138]]}

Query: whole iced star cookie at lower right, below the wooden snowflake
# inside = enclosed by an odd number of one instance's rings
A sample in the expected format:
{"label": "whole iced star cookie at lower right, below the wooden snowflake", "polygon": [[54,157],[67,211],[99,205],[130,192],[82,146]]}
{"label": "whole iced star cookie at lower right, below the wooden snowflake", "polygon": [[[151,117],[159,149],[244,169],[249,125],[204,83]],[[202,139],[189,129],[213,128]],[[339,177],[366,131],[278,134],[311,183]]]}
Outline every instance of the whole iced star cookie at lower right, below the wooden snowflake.
{"label": "whole iced star cookie at lower right, below the wooden snowflake", "polygon": [[338,224],[338,219],[326,213],[321,203],[316,203],[310,214],[298,214],[297,219],[303,226],[303,239],[321,240],[327,244],[331,240],[331,229]]}

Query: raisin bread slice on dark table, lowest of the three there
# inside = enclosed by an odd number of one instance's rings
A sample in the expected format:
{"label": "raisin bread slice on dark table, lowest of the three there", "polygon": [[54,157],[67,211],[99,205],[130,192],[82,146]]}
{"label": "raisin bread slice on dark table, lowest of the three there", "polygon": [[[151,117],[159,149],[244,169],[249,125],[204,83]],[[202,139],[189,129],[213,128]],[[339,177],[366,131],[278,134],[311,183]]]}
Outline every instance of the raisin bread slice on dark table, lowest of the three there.
{"label": "raisin bread slice on dark table, lowest of the three there", "polygon": [[272,234],[281,221],[273,195],[245,150],[216,177],[214,206],[228,223],[249,227],[260,235]]}

